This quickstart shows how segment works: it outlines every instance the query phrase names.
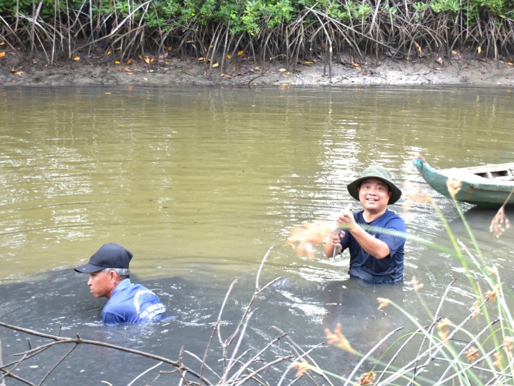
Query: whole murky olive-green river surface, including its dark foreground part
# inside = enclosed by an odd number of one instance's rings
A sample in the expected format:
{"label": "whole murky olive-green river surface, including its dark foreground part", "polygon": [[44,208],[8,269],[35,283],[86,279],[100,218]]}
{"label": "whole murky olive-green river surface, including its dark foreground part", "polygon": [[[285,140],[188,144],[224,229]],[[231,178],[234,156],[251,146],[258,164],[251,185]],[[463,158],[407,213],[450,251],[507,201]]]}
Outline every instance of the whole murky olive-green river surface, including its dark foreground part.
{"label": "whole murky olive-green river surface, including its dark foreground part", "polygon": [[[377,310],[376,297],[394,299],[420,323],[430,323],[412,276],[424,284],[420,294],[433,312],[456,278],[441,312],[462,320],[474,298],[462,263],[450,255],[409,240],[404,284],[372,286],[349,280],[347,255],[329,261],[317,246],[315,257],[306,258],[286,240],[293,227],[333,219],[350,202],[358,208],[346,185],[379,163],[400,186],[411,181],[430,194],[472,249],[454,204],[424,183],[412,158],[420,153],[437,168],[512,162],[512,97],[512,90],[492,87],[2,90],[0,322],[48,334],[60,329],[63,336],[173,360],[184,346],[202,358],[231,283],[238,279],[221,317],[225,339],[255,290],[268,251],[258,286],[277,281],[255,303],[244,349],[262,349],[279,335],[276,327],[308,350],[324,342],[324,328],[340,323],[352,346],[366,352],[392,329],[410,324],[392,307]],[[431,205],[404,213],[402,201],[390,208],[405,219],[409,234],[448,243]],[[496,239],[489,232],[495,210],[461,208],[487,264],[512,283],[513,230]],[[511,210],[507,215],[514,218]],[[133,252],[133,281],[158,293],[167,321],[99,324],[105,300],[92,298],[87,276],[72,268],[105,242]],[[479,270],[470,269],[472,280],[479,280]],[[27,341],[32,347],[46,342],[1,327],[0,339],[4,363],[28,349]],[[51,348],[15,374],[39,383],[67,349]],[[295,355],[282,341],[269,352]],[[359,360],[331,346],[311,355],[345,376]],[[215,337],[207,361],[216,371],[221,357]],[[184,361],[199,368],[191,356]],[[45,384],[128,385],[156,363],[81,345]],[[284,373],[294,379],[288,364],[266,374],[271,385]],[[161,365],[133,384],[178,384],[176,374],[156,379],[159,370],[170,369]]]}

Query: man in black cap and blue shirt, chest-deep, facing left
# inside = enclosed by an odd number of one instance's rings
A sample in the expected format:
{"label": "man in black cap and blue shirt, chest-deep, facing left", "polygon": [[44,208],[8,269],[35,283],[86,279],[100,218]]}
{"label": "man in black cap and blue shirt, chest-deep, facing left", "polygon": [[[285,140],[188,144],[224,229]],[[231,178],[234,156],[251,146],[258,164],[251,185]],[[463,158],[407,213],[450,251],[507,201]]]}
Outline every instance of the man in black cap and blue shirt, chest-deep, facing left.
{"label": "man in black cap and blue shirt, chest-deep, facing left", "polygon": [[131,283],[128,270],[132,253],[119,244],[103,244],[88,264],[75,271],[89,274],[88,285],[95,298],[106,297],[101,312],[105,324],[141,323],[163,319],[166,308],[146,287]]}

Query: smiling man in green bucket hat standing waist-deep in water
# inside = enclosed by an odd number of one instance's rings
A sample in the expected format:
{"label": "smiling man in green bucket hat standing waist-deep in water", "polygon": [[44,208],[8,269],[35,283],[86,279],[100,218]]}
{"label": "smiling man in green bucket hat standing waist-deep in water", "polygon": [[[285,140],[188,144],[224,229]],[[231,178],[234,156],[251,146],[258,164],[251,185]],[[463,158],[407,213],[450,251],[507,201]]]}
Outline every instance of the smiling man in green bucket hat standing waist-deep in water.
{"label": "smiling man in green bucket hat standing waist-deep in water", "polygon": [[331,233],[325,255],[333,257],[349,249],[351,277],[370,283],[395,283],[404,274],[405,222],[388,205],[401,197],[385,167],[371,166],[348,185],[349,194],[363,210],[342,213],[340,229]]}

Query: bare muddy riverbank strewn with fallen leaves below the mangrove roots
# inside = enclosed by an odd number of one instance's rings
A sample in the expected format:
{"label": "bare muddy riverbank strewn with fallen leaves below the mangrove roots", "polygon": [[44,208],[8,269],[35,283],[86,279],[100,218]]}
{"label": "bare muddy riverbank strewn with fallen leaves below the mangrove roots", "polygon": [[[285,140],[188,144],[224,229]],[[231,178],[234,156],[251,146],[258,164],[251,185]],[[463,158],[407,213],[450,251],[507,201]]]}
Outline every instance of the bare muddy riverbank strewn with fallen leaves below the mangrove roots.
{"label": "bare muddy riverbank strewn with fallen leaves below the mangrove roots", "polygon": [[329,67],[322,60],[299,62],[296,68],[284,62],[260,65],[252,60],[234,60],[224,71],[209,68],[197,58],[142,58],[117,63],[103,55],[90,54],[48,65],[44,57],[20,59],[5,51],[0,58],[0,83],[4,86],[88,85],[478,85],[514,86],[510,60],[486,60],[454,53],[451,58],[405,60],[369,58],[354,62],[340,58]]}

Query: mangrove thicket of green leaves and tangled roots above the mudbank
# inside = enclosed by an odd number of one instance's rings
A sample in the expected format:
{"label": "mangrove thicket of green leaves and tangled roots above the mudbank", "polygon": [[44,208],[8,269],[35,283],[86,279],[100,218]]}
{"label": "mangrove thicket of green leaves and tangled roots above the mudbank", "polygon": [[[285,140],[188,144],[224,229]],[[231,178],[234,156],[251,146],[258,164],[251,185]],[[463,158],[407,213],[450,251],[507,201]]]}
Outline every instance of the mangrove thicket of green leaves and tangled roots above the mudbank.
{"label": "mangrove thicket of green leaves and tangled roots above the mudbank", "polygon": [[222,67],[240,51],[294,66],[327,52],[442,60],[514,49],[514,0],[0,0],[0,17],[3,42],[50,62],[92,46],[113,60],[172,52]]}

